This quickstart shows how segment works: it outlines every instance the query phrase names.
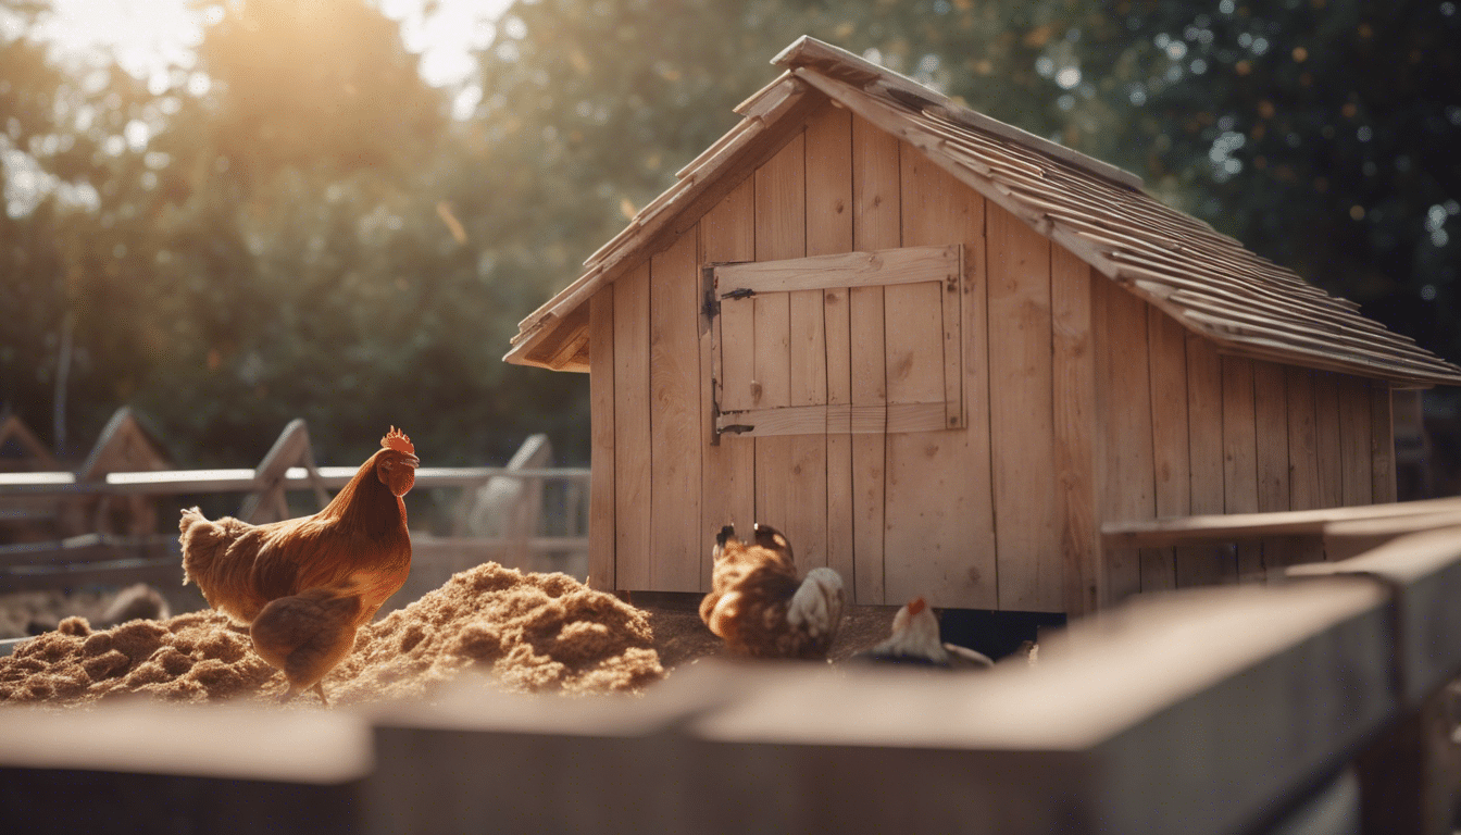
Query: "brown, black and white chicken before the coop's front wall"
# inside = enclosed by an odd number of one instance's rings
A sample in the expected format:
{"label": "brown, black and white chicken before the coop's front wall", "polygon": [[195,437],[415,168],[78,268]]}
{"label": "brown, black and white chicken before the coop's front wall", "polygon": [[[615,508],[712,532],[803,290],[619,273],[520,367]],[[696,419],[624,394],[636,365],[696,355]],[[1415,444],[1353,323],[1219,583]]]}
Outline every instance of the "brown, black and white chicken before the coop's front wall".
{"label": "brown, black and white chicken before the coop's front wall", "polygon": [[735,655],[827,658],[846,602],[837,572],[818,567],[798,581],[792,544],[770,525],[755,525],[751,543],[720,528],[712,591],[700,619]]}

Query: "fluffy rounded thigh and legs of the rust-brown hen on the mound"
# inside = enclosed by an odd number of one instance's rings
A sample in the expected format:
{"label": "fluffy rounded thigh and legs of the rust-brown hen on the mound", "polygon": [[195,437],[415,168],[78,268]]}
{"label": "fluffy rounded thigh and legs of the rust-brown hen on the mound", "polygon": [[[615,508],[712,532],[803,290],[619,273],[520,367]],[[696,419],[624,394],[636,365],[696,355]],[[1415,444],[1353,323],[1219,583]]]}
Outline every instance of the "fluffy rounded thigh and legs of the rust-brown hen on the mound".
{"label": "fluffy rounded thigh and legs of the rust-brown hen on the mound", "polygon": [[329,705],[320,680],[355,645],[359,611],[358,595],[317,588],[273,600],[259,613],[248,633],[259,655],[289,681],[282,702],[313,687]]}

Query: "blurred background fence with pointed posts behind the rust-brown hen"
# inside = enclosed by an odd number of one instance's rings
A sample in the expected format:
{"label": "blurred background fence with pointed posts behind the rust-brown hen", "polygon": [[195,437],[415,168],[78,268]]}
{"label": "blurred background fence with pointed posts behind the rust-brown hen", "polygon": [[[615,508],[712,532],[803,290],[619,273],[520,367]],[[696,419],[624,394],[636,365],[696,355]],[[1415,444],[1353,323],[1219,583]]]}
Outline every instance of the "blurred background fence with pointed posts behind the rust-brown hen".
{"label": "blurred background fence with pointed posts behind the rust-brown hen", "polygon": [[[411,579],[383,611],[487,560],[586,576],[589,469],[549,462],[548,439],[536,434],[506,466],[419,468],[416,491],[456,488],[460,499],[447,535],[412,532]],[[118,464],[134,468],[117,471]],[[120,411],[80,471],[0,472],[0,531],[63,534],[0,544],[0,592],[139,581],[175,585],[181,579],[177,534],[158,532],[152,499],[240,493],[237,516],[262,524],[291,515],[286,494],[292,491],[313,494],[314,506],[323,507],[327,490],[343,487],[358,471],[317,466],[302,420],[291,421],[253,469],[171,469],[164,464],[136,418]],[[555,531],[545,535],[549,485],[560,487]]]}

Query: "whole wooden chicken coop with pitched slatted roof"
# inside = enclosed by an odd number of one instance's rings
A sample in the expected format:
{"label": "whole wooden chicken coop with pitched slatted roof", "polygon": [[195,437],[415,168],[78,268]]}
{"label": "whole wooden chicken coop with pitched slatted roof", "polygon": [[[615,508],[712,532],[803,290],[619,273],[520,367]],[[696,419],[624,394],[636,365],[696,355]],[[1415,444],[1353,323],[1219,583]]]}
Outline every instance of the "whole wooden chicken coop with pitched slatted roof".
{"label": "whole wooden chicken coop with pitched slatted roof", "polygon": [[587,371],[590,582],[700,592],[771,524],[858,604],[1078,614],[1274,567],[1100,528],[1395,497],[1461,383],[1138,177],[811,38],[523,320]]}

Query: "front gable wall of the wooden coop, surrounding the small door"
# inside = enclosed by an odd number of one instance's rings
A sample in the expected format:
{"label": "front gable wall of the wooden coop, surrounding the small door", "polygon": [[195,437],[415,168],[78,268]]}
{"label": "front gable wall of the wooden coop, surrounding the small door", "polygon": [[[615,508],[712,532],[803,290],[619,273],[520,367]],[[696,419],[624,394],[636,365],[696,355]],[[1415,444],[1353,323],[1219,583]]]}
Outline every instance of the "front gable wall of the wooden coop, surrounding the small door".
{"label": "front gable wall of the wooden coop, surrounding the small door", "polygon": [[[592,303],[596,586],[707,589],[716,531],[760,521],[787,532],[801,569],[837,569],[861,604],[1094,602],[1094,377],[1080,260],[831,107],[679,228]],[[948,243],[964,246],[964,428],[714,443],[710,348],[722,317],[701,311],[704,265]],[[757,382],[793,404],[887,396],[904,385],[897,357],[916,342],[899,292],[799,291],[757,307],[798,335],[789,367],[758,366]],[[818,355],[847,361],[820,374]]]}

